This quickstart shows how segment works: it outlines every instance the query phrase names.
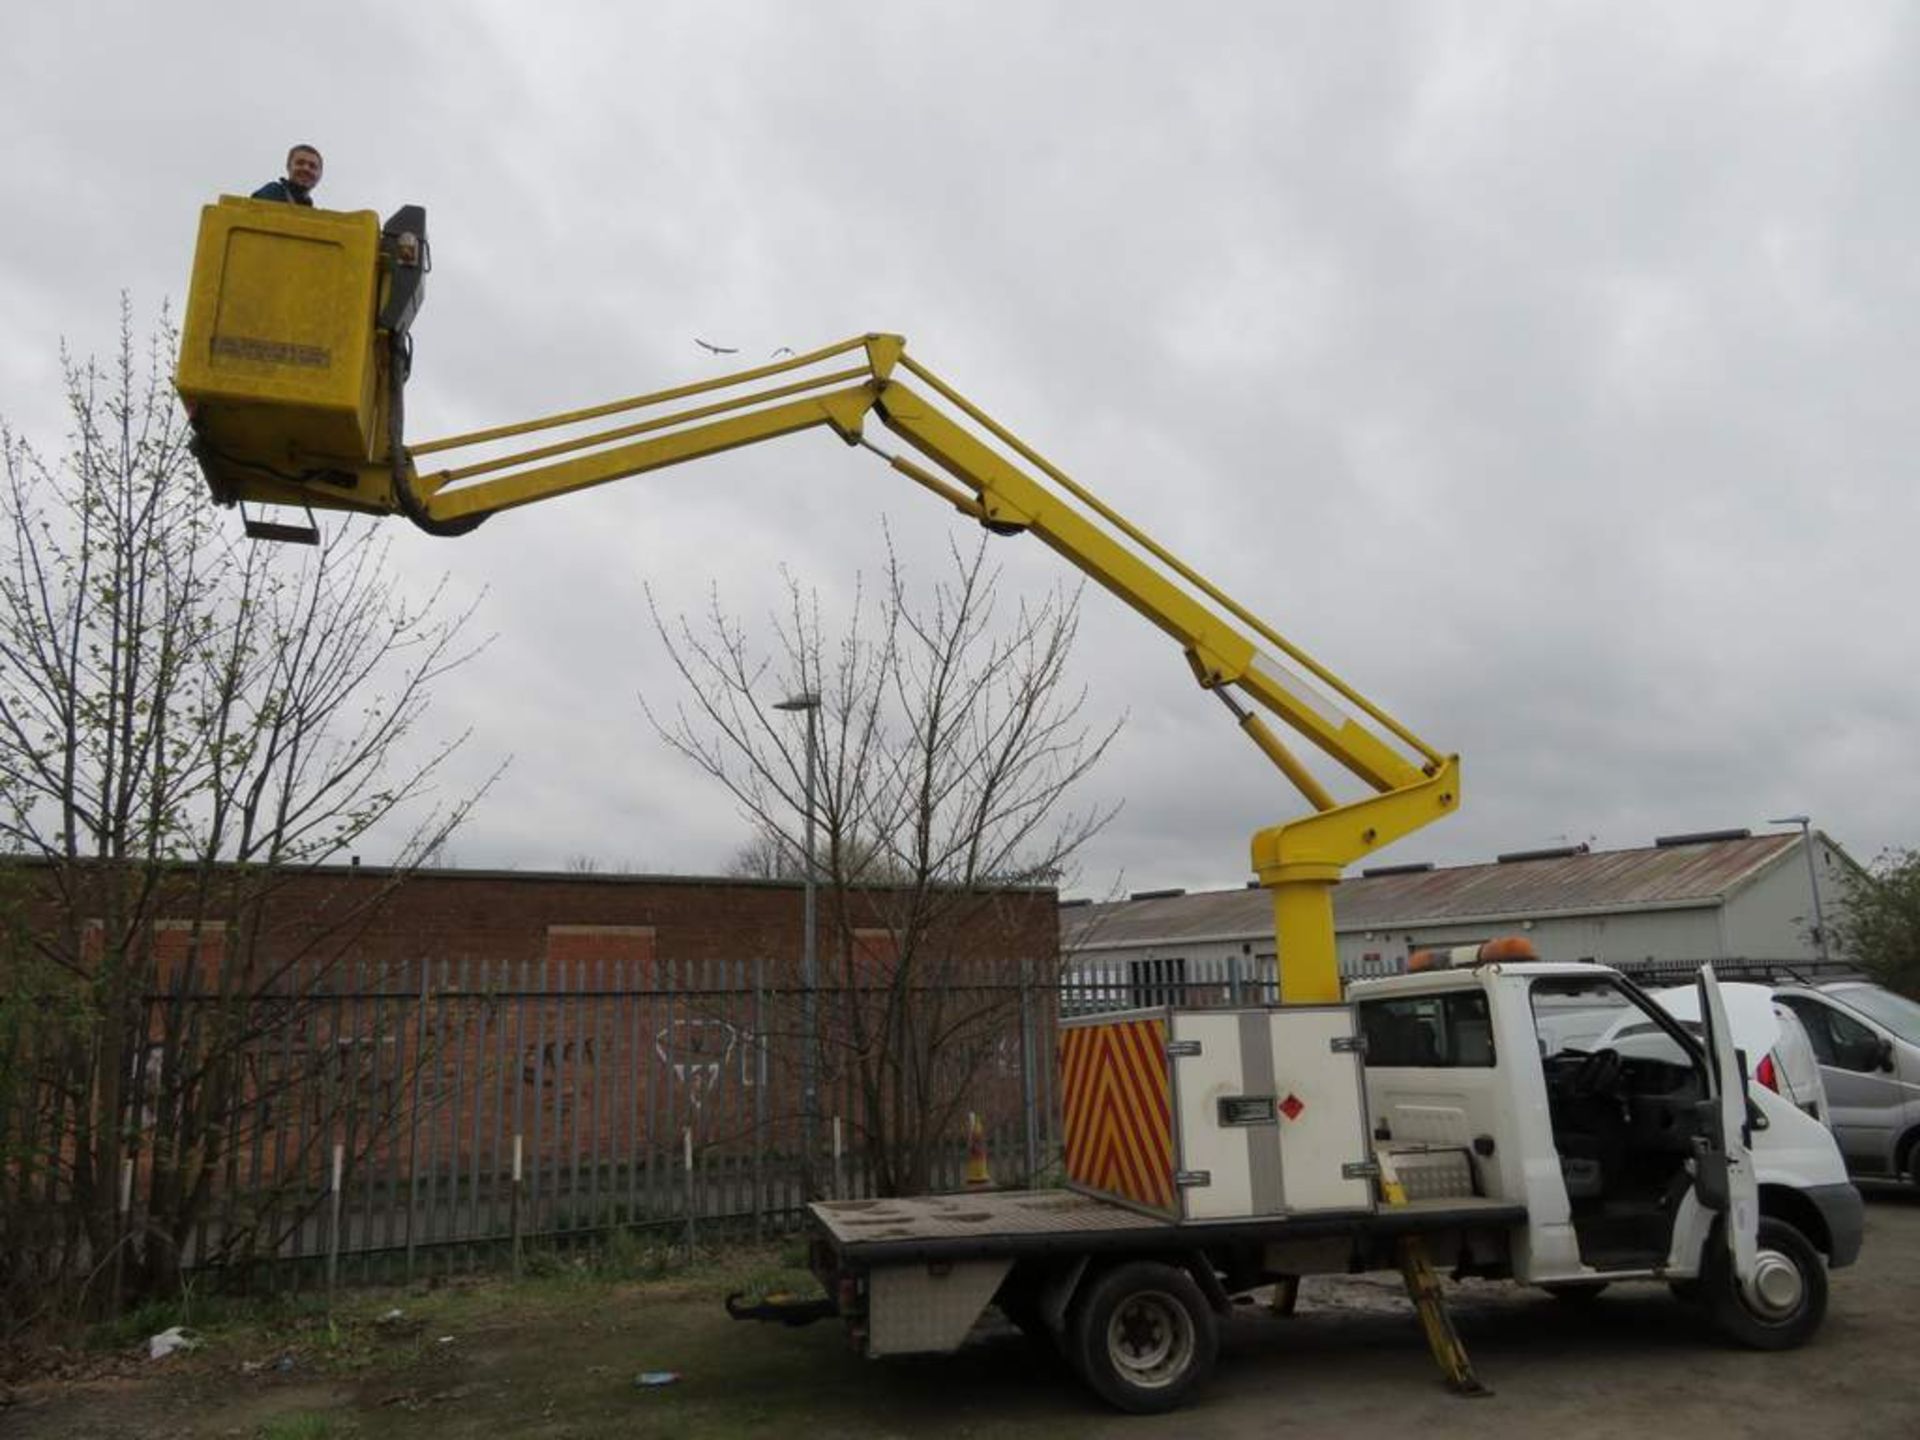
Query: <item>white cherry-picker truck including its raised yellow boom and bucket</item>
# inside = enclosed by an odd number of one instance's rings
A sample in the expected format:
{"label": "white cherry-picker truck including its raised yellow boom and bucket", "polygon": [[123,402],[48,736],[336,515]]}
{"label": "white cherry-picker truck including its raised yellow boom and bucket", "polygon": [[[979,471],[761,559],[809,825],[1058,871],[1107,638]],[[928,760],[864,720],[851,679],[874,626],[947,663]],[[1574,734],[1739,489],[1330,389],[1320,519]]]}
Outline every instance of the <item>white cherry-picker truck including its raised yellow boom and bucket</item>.
{"label": "white cherry-picker truck including its raised yellow boom and bucket", "polygon": [[[1860,1244],[1860,1202],[1818,1121],[1768,1091],[1747,1096],[1711,975],[1705,1044],[1592,966],[1501,960],[1342,996],[1332,889],[1346,866],[1459,806],[1457,755],[995,422],[897,334],[409,444],[428,255],[419,205],[384,225],[236,196],[202,211],[175,374],[194,455],[219,503],[307,516],[248,516],[248,534],[311,543],[315,511],[351,511],[463,536],[524,505],[820,430],[991,534],[1039,540],[1135,609],[1309,806],[1250,845],[1273,895],[1279,1008],[1068,1021],[1073,1188],[818,1204],[828,1300],[737,1313],[831,1309],[885,1356],[950,1350],[996,1304],[1058,1336],[1125,1409],[1177,1404],[1212,1367],[1233,1296],[1300,1275],[1398,1267],[1432,1334],[1444,1311],[1427,1256],[1563,1294],[1668,1281],[1755,1346],[1799,1344],[1820,1325],[1826,1271]],[[900,447],[877,444],[876,426]],[[1261,490],[1284,515],[1283,492]],[[1275,574],[1284,557],[1275,543]],[[1645,1010],[1670,1054],[1544,1043],[1542,1016],[1596,989]]]}

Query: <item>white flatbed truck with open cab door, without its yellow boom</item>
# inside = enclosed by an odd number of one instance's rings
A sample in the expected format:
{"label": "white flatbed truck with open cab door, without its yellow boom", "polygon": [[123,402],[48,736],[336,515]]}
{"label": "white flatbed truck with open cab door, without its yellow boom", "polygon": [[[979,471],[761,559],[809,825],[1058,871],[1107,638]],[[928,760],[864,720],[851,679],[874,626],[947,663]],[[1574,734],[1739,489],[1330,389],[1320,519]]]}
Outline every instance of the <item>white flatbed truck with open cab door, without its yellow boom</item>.
{"label": "white flatbed truck with open cab door, without its yellow boom", "polygon": [[[1357,981],[1340,1006],[1068,1021],[1075,1188],[818,1202],[828,1298],[730,1309],[831,1313],[895,1356],[954,1350],[998,1306],[1110,1404],[1162,1411],[1210,1373],[1235,1296],[1402,1269],[1419,1238],[1457,1277],[1567,1298],[1663,1281],[1741,1344],[1803,1344],[1859,1254],[1860,1196],[1820,1121],[1747,1089],[1699,983],[1705,1043],[1620,973],[1548,962]],[[1668,1046],[1548,1052],[1557,1010],[1601,1004]],[[1100,1050],[1133,1058],[1102,1071]],[[1158,1175],[1140,1135],[1169,1140]]]}

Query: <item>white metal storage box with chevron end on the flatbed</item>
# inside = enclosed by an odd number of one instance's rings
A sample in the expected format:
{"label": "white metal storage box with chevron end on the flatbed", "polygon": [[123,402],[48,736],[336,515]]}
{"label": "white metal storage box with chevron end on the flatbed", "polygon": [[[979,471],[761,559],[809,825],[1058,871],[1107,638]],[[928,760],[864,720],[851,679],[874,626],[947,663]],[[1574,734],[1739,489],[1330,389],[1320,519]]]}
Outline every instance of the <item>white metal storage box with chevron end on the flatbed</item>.
{"label": "white metal storage box with chevron end on the flatbed", "polygon": [[1348,1006],[1066,1020],[1068,1185],[1177,1221],[1375,1204]]}

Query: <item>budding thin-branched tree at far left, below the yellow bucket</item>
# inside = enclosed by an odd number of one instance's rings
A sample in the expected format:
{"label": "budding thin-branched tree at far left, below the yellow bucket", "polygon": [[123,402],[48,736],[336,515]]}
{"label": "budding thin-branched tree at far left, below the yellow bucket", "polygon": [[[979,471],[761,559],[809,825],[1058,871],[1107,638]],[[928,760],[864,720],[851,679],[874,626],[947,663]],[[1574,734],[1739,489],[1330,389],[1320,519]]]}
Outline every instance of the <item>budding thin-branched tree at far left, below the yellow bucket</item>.
{"label": "budding thin-branched tree at far left, below the yellow bucket", "polygon": [[31,960],[50,1021],[0,1054],[29,1096],[0,1177],[12,1302],[98,1296],[109,1271],[165,1290],[190,1244],[240,1261],[301,1223],[309,1156],[236,1202],[240,1148],[326,1091],[351,1114],[315,1112],[313,1142],[365,1154],[403,1091],[334,1083],[349,1041],[319,1012],[382,885],[298,927],[276,897],[376,831],[403,876],[478,799],[436,793],[463,737],[420,733],[470,611],[403,595],[367,526],[298,553],[236,541],[173,346],[165,317],[136,346],[123,301],[108,365],[61,355],[65,453],[0,426],[0,849],[33,916],[12,979]]}

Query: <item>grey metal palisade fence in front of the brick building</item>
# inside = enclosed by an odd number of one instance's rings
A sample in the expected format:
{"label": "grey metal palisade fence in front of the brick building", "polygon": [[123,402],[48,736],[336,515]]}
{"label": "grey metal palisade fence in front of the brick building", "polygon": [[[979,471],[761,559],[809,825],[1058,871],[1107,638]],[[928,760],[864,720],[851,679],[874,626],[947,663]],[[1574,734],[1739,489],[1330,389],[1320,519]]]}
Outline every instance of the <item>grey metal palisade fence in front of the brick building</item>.
{"label": "grey metal palisade fence in front of the brick building", "polygon": [[[1692,973],[1676,964],[1647,977],[1665,981],[1668,970]],[[1062,972],[985,964],[937,993],[889,993],[879,977],[828,985],[816,991],[820,1098],[808,1125],[803,996],[770,983],[764,962],[440,958],[397,975],[348,962],[321,977],[296,970],[284,993],[250,1000],[240,1102],[211,1142],[202,1133],[188,1144],[179,1098],[188,1091],[163,1073],[163,1039],[219,1000],[182,968],[142,1000],[150,1044],[125,1077],[115,1252],[152,1238],[182,1148],[207,1164],[192,1225],[167,1236],[179,1267],[275,1286],[499,1265],[616,1229],[668,1244],[693,1242],[703,1227],[780,1233],[803,1219],[810,1194],[877,1190],[876,1116],[900,1114],[902,1100],[895,1081],[876,1083],[862,1066],[881,1035],[862,1031],[860,1016],[881,1004],[937,1012],[948,1037],[916,1081],[931,1116],[927,1188],[964,1188],[970,1116],[995,1183],[1046,1183],[1060,1139],[1060,1018],[1275,1000],[1271,962],[1250,956],[1069,958]],[[58,1027],[0,1033],[0,1066],[23,1079],[0,1106],[0,1229],[15,1269],[35,1248],[71,1244],[88,1198],[65,1164],[81,1112],[33,1079],[63,1043]]]}

